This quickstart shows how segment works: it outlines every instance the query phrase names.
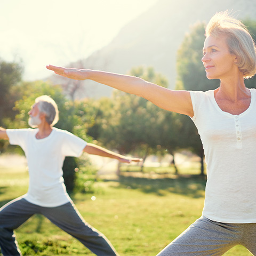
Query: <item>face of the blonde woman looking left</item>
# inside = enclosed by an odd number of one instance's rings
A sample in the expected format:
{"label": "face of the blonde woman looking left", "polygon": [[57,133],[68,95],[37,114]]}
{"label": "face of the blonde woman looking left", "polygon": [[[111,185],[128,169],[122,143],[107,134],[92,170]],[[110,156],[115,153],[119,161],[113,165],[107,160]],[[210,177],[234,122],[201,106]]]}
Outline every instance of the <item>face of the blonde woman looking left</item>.
{"label": "face of the blonde woman looking left", "polygon": [[234,77],[237,72],[237,58],[231,54],[226,43],[226,36],[208,36],[204,42],[203,58],[208,79],[223,79]]}

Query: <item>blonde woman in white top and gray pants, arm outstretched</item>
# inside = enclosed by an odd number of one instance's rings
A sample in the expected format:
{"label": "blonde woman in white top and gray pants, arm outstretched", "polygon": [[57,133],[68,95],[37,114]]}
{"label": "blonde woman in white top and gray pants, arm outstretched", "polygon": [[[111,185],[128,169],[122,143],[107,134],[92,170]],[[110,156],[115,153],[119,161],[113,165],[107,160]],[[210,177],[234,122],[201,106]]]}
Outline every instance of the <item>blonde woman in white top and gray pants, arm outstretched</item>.
{"label": "blonde woman in white top and gray pants, arm outstretched", "polygon": [[207,92],[172,91],[137,77],[47,66],[56,74],[92,79],[193,119],[207,163],[203,214],[158,256],[222,255],[237,244],[256,255],[256,90],[244,84],[256,73],[255,44],[227,12],[212,17],[205,35],[206,76],[220,79],[218,89]]}

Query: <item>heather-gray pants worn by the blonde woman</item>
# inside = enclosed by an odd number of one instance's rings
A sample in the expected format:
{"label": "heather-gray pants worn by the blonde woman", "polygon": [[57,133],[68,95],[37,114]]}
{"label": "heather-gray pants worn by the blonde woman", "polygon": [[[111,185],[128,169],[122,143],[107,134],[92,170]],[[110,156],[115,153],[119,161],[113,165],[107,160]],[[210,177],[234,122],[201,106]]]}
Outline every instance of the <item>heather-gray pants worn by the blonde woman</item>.
{"label": "heather-gray pants worn by the blonde woman", "polygon": [[238,244],[256,255],[256,223],[221,223],[201,217],[157,256],[218,256]]}

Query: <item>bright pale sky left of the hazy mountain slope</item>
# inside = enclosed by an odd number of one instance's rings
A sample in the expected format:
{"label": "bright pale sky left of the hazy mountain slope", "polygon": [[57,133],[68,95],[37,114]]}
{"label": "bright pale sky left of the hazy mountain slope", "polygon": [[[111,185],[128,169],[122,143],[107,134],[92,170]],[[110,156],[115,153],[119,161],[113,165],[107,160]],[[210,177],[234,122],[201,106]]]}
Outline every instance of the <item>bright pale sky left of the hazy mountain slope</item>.
{"label": "bright pale sky left of the hazy mountain slope", "polygon": [[158,0],[1,0],[0,59],[22,60],[23,80],[49,76],[109,44]]}

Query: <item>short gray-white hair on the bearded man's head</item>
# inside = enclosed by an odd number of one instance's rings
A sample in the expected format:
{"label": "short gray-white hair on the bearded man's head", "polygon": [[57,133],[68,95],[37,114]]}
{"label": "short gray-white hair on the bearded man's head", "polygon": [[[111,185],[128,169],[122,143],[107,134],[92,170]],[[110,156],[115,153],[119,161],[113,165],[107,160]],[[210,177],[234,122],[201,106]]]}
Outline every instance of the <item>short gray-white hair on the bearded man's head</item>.
{"label": "short gray-white hair on the bearded man's head", "polygon": [[41,113],[46,115],[46,122],[51,126],[57,124],[59,121],[59,110],[56,102],[48,95],[37,97],[35,102],[39,102],[38,109]]}

